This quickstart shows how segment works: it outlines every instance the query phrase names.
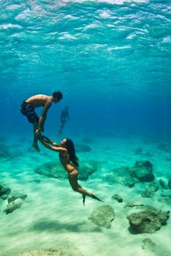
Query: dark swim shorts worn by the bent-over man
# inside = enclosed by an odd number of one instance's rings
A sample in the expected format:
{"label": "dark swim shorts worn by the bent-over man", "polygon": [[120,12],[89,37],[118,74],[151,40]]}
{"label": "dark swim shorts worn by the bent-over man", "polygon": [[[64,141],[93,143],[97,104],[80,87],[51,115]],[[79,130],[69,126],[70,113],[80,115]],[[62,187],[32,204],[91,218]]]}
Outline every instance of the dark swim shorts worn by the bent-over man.
{"label": "dark swim shorts worn by the bent-over man", "polygon": [[36,114],[34,107],[32,107],[28,102],[22,103],[20,111],[22,112],[22,115],[25,115],[25,117],[28,118],[30,123],[38,123],[39,117]]}

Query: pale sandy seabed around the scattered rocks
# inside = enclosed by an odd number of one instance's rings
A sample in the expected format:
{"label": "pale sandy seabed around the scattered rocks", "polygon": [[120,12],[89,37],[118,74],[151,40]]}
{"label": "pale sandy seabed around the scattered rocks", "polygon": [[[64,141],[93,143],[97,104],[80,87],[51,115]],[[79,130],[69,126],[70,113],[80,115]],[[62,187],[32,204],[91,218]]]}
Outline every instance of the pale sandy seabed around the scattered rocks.
{"label": "pale sandy seabed around the scattered rocks", "polygon": [[[40,176],[35,172],[35,168],[44,162],[57,160],[59,164],[58,154],[43,146],[41,152],[34,152],[30,149],[30,141],[24,144],[22,141],[18,137],[10,143],[6,141],[9,150],[6,157],[1,157],[0,183],[9,186],[11,194],[27,194],[28,197],[20,209],[8,215],[4,213],[7,200],[0,199],[0,256],[58,256],[58,249],[63,249],[59,252],[64,256],[171,255],[171,219],[153,234],[131,234],[126,218],[133,208],[125,207],[125,204],[135,200],[163,211],[170,210],[170,205],[159,201],[162,190],[152,198],[144,198],[141,197],[143,183],[129,188],[104,181],[104,176],[112,169],[133,166],[135,160],[150,160],[154,165],[156,182],[159,183],[159,178],[167,181],[171,178],[171,153],[158,149],[161,141],[96,138],[89,144],[91,152],[78,153],[80,162],[92,159],[101,162],[99,172],[93,173],[87,181],[80,181],[80,184],[113,207],[115,217],[109,229],[95,226],[88,219],[102,202],[87,197],[84,207],[81,195],[72,191],[67,180]],[[78,142],[83,143],[81,138]],[[3,151],[3,141],[1,148]],[[150,156],[136,155],[137,148],[149,152]],[[123,202],[112,200],[113,194],[119,194]],[[142,249],[146,238],[156,244],[154,251]]]}

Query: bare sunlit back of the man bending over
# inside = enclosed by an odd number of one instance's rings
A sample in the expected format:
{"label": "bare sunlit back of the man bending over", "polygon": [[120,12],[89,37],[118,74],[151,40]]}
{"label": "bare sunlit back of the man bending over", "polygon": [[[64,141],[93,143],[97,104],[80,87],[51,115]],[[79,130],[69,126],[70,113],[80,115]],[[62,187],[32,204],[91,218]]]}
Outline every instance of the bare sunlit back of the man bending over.
{"label": "bare sunlit back of the man bending over", "polygon": [[30,98],[26,99],[25,102],[28,102],[32,107],[44,107],[46,104],[52,103],[51,96],[37,94],[31,96]]}

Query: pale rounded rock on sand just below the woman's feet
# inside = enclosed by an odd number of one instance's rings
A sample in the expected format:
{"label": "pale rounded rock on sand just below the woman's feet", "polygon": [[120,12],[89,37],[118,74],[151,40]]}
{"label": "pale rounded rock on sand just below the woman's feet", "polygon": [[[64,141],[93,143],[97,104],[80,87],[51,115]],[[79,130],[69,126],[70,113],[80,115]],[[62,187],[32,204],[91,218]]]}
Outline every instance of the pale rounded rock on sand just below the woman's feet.
{"label": "pale rounded rock on sand just below the woman's feet", "polygon": [[93,210],[89,219],[99,227],[111,228],[114,210],[110,205],[102,205]]}

